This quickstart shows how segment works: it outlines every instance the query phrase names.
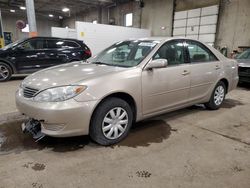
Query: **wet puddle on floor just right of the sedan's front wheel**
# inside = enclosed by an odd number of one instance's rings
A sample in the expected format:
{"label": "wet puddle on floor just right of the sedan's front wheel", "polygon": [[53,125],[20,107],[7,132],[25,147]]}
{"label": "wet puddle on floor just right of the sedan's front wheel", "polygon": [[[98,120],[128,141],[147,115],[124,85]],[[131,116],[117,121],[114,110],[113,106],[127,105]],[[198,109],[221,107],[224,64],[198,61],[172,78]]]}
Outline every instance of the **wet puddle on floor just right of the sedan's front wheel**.
{"label": "wet puddle on floor just right of the sedan's front wheel", "polygon": [[161,143],[167,139],[172,130],[162,120],[148,120],[136,123],[127,138],[118,143],[117,146],[136,148],[138,146],[149,146],[151,143]]}

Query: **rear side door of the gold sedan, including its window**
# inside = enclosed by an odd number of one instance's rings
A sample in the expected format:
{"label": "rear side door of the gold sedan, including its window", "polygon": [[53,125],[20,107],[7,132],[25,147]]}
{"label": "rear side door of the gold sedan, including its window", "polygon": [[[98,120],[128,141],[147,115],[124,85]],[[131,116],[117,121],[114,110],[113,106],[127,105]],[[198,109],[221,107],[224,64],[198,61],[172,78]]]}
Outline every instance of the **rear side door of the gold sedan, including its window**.
{"label": "rear side door of the gold sedan, including its window", "polygon": [[220,61],[202,43],[186,40],[190,61],[190,100],[202,99],[213,89],[221,69]]}

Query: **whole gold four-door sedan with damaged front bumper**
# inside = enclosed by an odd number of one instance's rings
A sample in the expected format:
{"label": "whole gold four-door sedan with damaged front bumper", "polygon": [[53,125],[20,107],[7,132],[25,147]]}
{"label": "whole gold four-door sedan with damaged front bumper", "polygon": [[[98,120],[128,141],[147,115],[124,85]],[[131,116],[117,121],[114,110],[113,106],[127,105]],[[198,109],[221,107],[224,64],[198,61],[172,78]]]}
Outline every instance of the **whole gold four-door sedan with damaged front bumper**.
{"label": "whole gold four-door sedan with damaged front bumper", "polygon": [[24,132],[124,139],[133,122],[197,103],[216,110],[238,83],[237,63],[186,38],[118,42],[86,62],[34,73],[16,93]]}

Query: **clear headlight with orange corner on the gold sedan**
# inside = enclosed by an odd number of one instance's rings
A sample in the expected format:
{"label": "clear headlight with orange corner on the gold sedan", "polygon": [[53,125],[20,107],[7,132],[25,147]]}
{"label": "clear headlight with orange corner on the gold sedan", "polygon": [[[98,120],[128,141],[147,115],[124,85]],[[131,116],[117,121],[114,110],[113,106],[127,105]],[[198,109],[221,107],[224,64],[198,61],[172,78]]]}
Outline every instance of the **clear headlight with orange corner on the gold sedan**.
{"label": "clear headlight with orange corner on the gold sedan", "polygon": [[37,102],[59,102],[71,99],[87,89],[86,86],[63,86],[46,89],[34,97]]}

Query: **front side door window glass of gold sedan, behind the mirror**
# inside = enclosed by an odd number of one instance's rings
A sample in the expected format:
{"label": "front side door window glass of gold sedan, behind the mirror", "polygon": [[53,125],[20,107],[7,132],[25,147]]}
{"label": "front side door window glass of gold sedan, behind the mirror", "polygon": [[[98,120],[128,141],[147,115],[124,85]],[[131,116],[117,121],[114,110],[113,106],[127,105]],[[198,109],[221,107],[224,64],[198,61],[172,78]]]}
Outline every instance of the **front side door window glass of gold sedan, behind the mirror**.
{"label": "front side door window glass of gold sedan, behind the mirror", "polygon": [[166,59],[168,65],[179,65],[184,61],[184,44],[182,41],[170,41],[163,44],[153,59]]}

